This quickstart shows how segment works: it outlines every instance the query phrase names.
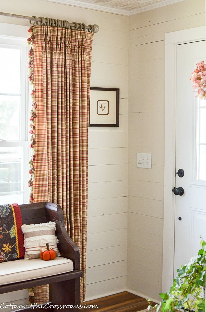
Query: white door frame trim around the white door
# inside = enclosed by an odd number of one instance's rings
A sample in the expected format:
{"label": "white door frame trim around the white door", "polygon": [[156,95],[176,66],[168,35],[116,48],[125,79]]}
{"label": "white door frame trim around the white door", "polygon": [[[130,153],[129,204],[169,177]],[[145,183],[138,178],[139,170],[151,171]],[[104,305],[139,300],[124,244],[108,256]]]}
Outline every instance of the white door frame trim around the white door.
{"label": "white door frame trim around the white door", "polygon": [[205,37],[205,26],[165,34],[165,182],[162,292],[170,290],[174,279],[175,196],[172,190],[175,186],[176,168],[176,46],[201,41]]}

